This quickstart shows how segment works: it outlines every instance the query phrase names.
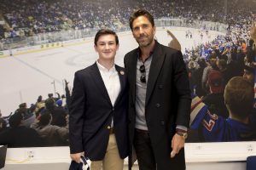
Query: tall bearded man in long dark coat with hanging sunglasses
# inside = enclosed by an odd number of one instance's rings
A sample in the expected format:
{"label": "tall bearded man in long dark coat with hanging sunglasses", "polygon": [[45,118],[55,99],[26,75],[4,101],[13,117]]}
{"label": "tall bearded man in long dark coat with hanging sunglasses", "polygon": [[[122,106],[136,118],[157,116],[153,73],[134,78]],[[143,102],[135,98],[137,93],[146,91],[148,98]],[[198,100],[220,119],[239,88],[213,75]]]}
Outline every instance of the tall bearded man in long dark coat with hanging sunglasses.
{"label": "tall bearded man in long dark coat with hanging sunglasses", "polygon": [[191,104],[183,56],[154,40],[154,19],[148,11],[133,13],[130,27],[139,45],[125,54],[130,150],[133,145],[140,170],[183,170]]}

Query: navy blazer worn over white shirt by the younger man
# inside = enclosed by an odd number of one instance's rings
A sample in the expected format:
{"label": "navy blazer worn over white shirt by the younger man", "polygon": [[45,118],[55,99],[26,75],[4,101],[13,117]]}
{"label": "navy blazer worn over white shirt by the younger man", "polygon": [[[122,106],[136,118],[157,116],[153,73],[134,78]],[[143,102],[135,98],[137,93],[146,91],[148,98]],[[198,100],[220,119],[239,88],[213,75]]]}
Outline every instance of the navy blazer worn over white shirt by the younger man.
{"label": "navy blazer worn over white shirt by the younger man", "polygon": [[73,94],[69,107],[70,152],[84,151],[91,161],[104,158],[113,117],[113,128],[119,156],[128,156],[128,85],[124,68],[115,65],[119,74],[121,91],[112,105],[101,73],[96,65],[90,65],[75,73]]}

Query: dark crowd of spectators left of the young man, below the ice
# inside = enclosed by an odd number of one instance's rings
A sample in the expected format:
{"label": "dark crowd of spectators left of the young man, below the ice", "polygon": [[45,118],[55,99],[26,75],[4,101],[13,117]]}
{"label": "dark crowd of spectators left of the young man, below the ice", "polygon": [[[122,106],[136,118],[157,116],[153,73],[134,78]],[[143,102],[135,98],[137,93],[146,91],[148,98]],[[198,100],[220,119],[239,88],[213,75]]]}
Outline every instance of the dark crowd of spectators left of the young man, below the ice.
{"label": "dark crowd of spectators left of the young man, below the ice", "polygon": [[0,144],[8,147],[38,147],[68,145],[68,104],[70,92],[66,82],[66,96],[48,94],[38,96],[29,107],[21,103],[9,116],[0,114]]}

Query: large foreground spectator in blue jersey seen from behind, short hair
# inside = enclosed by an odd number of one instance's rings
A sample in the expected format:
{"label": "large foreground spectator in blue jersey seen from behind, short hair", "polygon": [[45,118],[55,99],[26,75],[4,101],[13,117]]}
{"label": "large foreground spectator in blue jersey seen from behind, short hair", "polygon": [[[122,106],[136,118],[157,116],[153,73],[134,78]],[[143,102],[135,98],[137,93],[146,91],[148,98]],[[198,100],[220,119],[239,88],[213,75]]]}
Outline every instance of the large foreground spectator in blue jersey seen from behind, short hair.
{"label": "large foreground spectator in blue jersey seen from behind, short hair", "polygon": [[224,89],[224,102],[230,114],[227,119],[211,113],[207,105],[195,98],[192,102],[195,105],[192,105],[191,129],[197,130],[200,140],[206,142],[255,140],[256,126],[249,119],[253,108],[251,83],[243,77],[231,78]]}

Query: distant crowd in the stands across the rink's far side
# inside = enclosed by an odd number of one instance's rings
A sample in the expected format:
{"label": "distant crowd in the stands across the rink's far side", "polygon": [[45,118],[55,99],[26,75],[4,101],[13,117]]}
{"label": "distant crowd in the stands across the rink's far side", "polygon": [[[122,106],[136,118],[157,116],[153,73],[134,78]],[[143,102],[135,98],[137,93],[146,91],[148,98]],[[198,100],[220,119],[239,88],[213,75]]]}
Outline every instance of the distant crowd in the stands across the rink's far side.
{"label": "distant crowd in the stands across the rink's far side", "polygon": [[183,18],[188,22],[210,20],[230,26],[250,19],[254,10],[252,1],[227,2],[225,5],[224,0],[3,0],[0,8],[9,30],[3,32],[0,29],[0,35],[4,35],[4,38],[28,37],[42,32],[102,27],[116,30],[128,26],[130,14],[136,8],[147,9],[156,19]]}

